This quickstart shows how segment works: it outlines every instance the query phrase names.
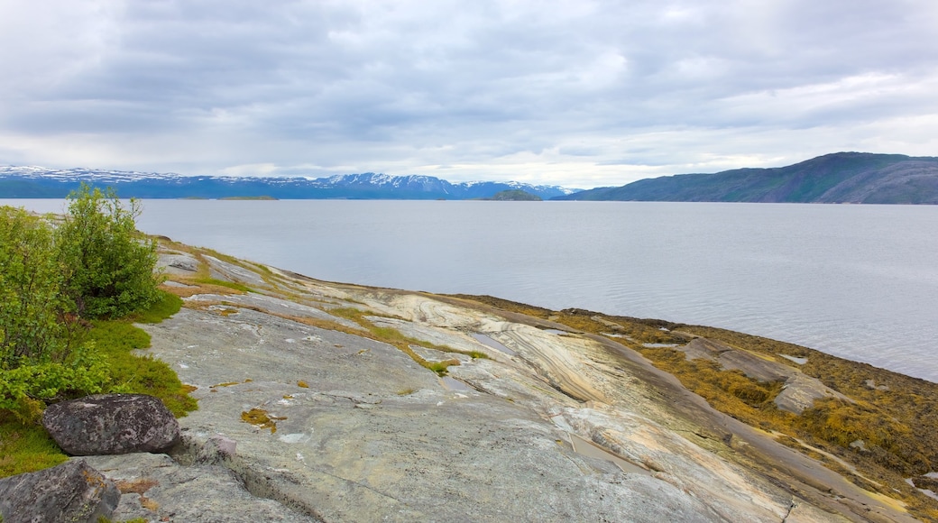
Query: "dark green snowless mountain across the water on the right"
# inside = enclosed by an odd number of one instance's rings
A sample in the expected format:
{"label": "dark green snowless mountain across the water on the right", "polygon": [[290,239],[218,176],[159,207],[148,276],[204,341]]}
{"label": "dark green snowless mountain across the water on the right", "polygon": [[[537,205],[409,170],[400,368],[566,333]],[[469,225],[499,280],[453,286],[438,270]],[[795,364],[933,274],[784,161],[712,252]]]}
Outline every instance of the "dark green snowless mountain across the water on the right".
{"label": "dark green snowless mountain across the water on the right", "polygon": [[677,174],[554,200],[938,203],[938,157],[835,153],[788,167]]}

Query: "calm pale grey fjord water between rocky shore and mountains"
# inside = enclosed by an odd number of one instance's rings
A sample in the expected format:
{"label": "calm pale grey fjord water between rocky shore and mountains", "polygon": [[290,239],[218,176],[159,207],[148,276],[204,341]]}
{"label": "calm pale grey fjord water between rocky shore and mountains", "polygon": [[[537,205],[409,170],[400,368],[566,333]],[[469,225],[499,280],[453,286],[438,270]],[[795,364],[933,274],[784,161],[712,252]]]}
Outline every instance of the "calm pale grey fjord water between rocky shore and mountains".
{"label": "calm pale grey fjord water between rocky shore and mountains", "polygon": [[146,201],[138,225],[326,280],[715,325],[938,381],[938,206]]}

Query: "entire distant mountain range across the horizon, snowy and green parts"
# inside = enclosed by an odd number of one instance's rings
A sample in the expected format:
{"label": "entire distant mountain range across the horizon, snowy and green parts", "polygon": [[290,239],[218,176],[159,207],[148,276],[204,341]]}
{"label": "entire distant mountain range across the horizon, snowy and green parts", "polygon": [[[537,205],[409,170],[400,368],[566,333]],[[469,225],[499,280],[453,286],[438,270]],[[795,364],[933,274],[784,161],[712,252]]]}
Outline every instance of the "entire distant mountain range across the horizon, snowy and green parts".
{"label": "entire distant mountain range across the horizon, snowy and green parts", "polygon": [[481,200],[523,191],[543,200],[938,204],[938,157],[835,153],[788,167],[675,174],[583,191],[520,182],[454,184],[433,176],[373,172],[257,178],[0,167],[0,198],[64,198],[82,182],[136,198]]}

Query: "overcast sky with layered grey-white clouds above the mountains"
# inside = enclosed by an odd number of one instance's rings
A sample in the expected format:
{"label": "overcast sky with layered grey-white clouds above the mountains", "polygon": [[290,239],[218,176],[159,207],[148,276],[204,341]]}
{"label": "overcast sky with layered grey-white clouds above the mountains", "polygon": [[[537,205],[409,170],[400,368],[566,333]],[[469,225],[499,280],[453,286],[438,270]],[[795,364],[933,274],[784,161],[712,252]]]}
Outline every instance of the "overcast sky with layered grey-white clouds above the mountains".
{"label": "overcast sky with layered grey-white clouds above the mountains", "polygon": [[4,0],[0,164],[621,186],[938,156],[934,0]]}

